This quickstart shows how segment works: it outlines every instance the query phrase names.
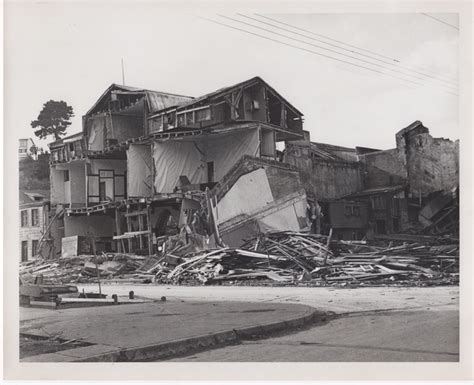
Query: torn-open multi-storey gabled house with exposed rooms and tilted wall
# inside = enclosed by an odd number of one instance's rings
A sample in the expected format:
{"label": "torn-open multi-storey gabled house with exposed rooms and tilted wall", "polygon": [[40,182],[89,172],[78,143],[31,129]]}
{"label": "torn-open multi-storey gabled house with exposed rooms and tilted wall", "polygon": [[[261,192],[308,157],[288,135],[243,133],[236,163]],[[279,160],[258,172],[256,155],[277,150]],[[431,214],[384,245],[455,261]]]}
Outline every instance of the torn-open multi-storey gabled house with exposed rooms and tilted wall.
{"label": "torn-open multi-storey gabled house with exposed rooms and tilted wall", "polygon": [[242,234],[305,228],[299,173],[276,148],[302,139],[302,123],[258,77],[199,98],[110,86],[81,133],[49,145],[63,254],[87,247],[81,237],[95,252],[152,254],[183,232],[238,245]]}

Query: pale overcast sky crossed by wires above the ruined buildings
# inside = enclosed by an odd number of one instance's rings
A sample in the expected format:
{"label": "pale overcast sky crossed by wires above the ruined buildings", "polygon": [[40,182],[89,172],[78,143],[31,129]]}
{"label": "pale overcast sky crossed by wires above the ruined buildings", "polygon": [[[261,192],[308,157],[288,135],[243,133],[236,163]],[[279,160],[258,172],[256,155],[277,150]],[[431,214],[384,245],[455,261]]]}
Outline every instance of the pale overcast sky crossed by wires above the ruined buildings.
{"label": "pale overcast sky crossed by wires above the ruined buildings", "polygon": [[7,3],[5,128],[45,146],[52,139],[39,141],[30,123],[53,99],[75,111],[67,133],[80,131],[82,115],[122,83],[123,58],[126,85],[182,95],[261,76],[303,112],[316,142],[393,148],[395,133],[415,120],[435,137],[459,138],[456,14],[263,12],[287,26],[242,14],[287,31],[156,3]]}

